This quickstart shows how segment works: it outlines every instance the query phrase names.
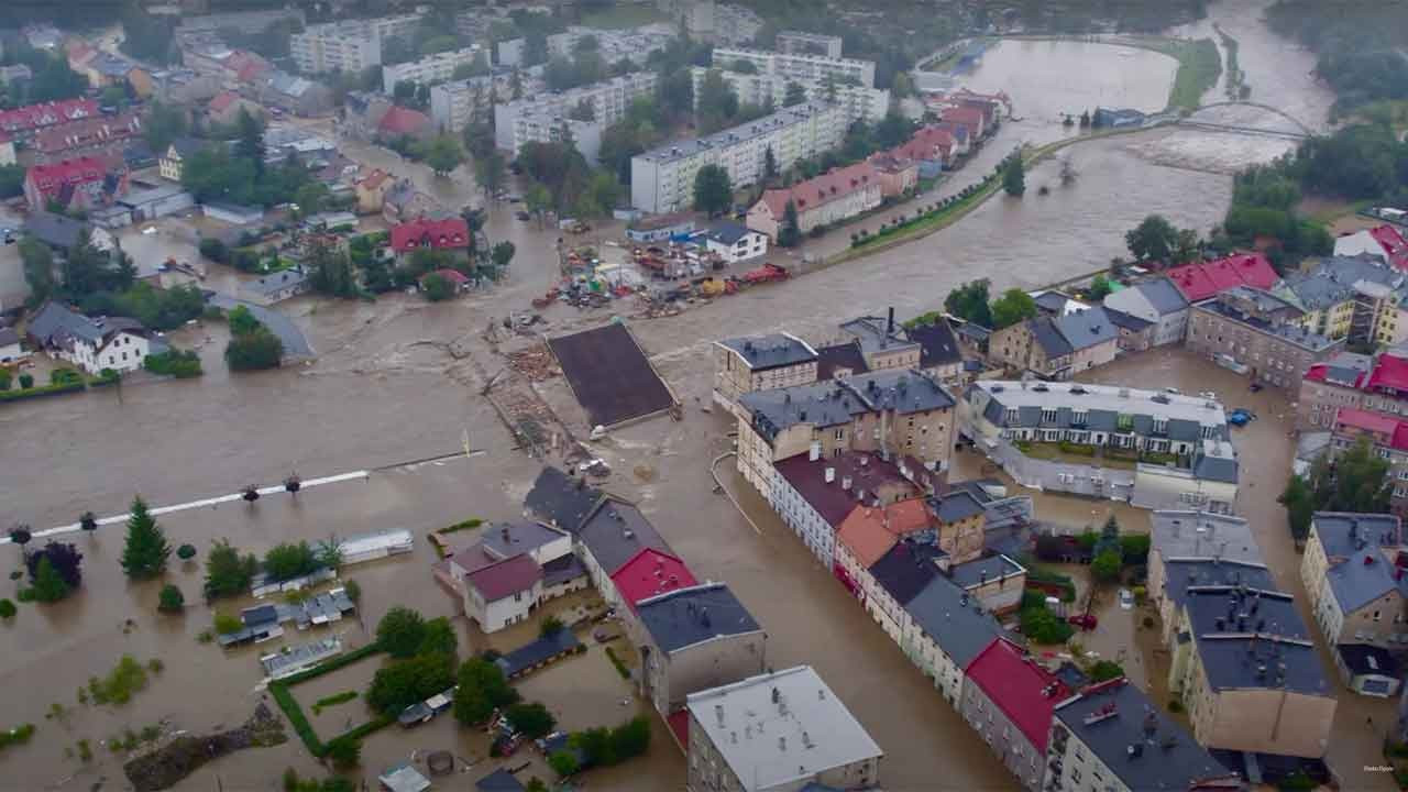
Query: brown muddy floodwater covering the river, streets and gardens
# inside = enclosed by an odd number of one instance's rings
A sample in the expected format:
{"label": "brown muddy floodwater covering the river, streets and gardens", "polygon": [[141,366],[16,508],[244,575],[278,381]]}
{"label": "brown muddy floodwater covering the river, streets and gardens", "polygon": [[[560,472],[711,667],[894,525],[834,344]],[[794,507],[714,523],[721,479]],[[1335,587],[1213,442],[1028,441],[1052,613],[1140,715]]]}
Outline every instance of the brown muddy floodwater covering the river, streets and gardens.
{"label": "brown muddy floodwater covering the river, streets and gardens", "polygon": [[[1211,14],[1239,38],[1240,59],[1256,99],[1294,107],[1294,114],[1324,125],[1329,96],[1308,78],[1311,56],[1270,34],[1255,10],[1243,4],[1212,6]],[[1195,30],[1198,35],[1209,32]],[[1111,49],[1105,52],[1104,49]],[[1024,87],[1024,63],[1041,70],[1039,89]],[[1002,45],[988,54],[974,87],[1004,87],[1018,100],[1021,121],[1000,135],[970,166],[942,190],[976,180],[1012,147],[1046,142],[1069,134],[1055,118],[1067,107],[1095,101],[1140,109],[1163,106],[1171,69],[1162,56],[1090,44]],[[1053,78],[1055,65],[1064,76]],[[1088,68],[1080,68],[1088,63]],[[994,69],[990,75],[986,69]],[[1091,89],[1086,72],[1098,73]],[[1124,76],[1111,78],[1111,73]],[[983,82],[991,80],[991,82]],[[1064,90],[1064,93],[1063,93]],[[1095,93],[1091,93],[1095,90]],[[1032,96],[1029,109],[1024,92]],[[1107,93],[1112,92],[1112,93]],[[1245,109],[1208,110],[1242,113]],[[1262,121],[1273,123],[1270,117]],[[897,792],[935,789],[1008,789],[1011,779],[959,716],[945,706],[931,685],[900,650],[855,606],[831,575],[770,514],[750,490],[728,476],[753,524],[711,492],[710,461],[729,450],[728,424],[705,414],[711,371],[708,344],[721,335],[786,328],[812,338],[834,334],[838,320],[894,304],[901,316],[938,307],[946,292],[972,278],[990,278],[994,287],[1038,286],[1093,272],[1122,255],[1124,231],[1145,214],[1162,213],[1178,225],[1202,231],[1222,216],[1231,193],[1229,173],[1247,162],[1284,151],[1284,141],[1245,138],[1188,130],[1150,131],[1091,141],[1064,149],[1079,172],[1074,185],[1059,183],[1059,165],[1049,161],[1028,175],[1031,187],[1050,185],[1049,196],[1029,189],[1022,200],[997,197],[962,223],[883,254],[822,269],[793,282],[694,306],[681,316],[636,321],[634,328],[666,379],[686,403],[683,421],[659,419],[614,433],[596,451],[617,471],[608,486],[638,497],[659,530],[700,578],[731,583],[769,631],[773,667],[810,662],[846,702],[886,750],[881,778]],[[348,145],[349,156],[413,175],[425,189],[452,206],[477,200],[473,185],[459,171],[434,179],[425,169],[398,162],[384,149]],[[942,194],[942,193],[941,193]],[[230,376],[215,342],[204,345],[204,378],[187,382],[132,383],[120,392],[58,397],[0,410],[0,507],[4,519],[37,530],[72,523],[84,510],[122,512],[134,493],[156,505],[184,503],[235,492],[255,482],[268,485],[291,471],[304,478],[367,471],[349,482],[314,488],[296,499],[269,496],[246,506],[227,503],[162,517],[173,544],[190,541],[201,557],[215,538],[262,552],[290,538],[321,540],[386,527],[417,534],[413,555],[351,571],[363,589],[360,620],[342,621],[337,631],[349,644],[366,640],[366,630],[394,605],[408,605],[428,616],[456,617],[462,651],[496,645],[473,630],[455,603],[431,579],[434,554],[421,536],[470,516],[508,519],[539,462],[513,450],[513,441],[491,407],[479,396],[484,382],[501,368],[500,358],[480,340],[491,317],[522,310],[556,278],[553,233],[513,218],[513,204],[491,209],[489,233],[518,245],[511,273],[491,293],[458,302],[427,304],[404,296],[376,303],[296,300],[280,306],[308,335],[318,357],[282,371]],[[843,234],[832,234],[808,252],[841,249]],[[149,240],[153,255],[193,258],[193,242],[180,234]],[[631,313],[621,303],[614,310]],[[610,311],[579,314],[555,306],[545,318],[549,333],[597,324]],[[179,341],[200,341],[207,331],[183,331]],[[451,352],[449,342],[458,342]],[[1284,517],[1274,503],[1284,476],[1288,424],[1274,416],[1286,410],[1274,395],[1245,393],[1236,378],[1194,361],[1159,354],[1100,372],[1105,380],[1148,385],[1184,383],[1207,389],[1214,382],[1229,403],[1255,407],[1263,420],[1239,435],[1249,481],[1240,507],[1262,531],[1269,561],[1283,586],[1297,590],[1297,557],[1286,541]],[[583,428],[580,410],[560,380],[543,385],[548,400],[565,420]],[[463,440],[476,450],[463,455]],[[455,455],[456,457],[451,457]],[[960,469],[981,472],[976,459]],[[632,471],[641,466],[643,476]],[[1070,524],[1104,519],[1102,505],[1042,499],[1042,514]],[[1121,512],[1138,524],[1139,516]],[[259,698],[258,651],[222,652],[196,637],[210,626],[211,610],[200,603],[201,569],[175,562],[166,575],[193,603],[184,616],[159,616],[159,583],[128,583],[118,568],[120,528],[75,536],[84,554],[84,585],[69,600],[52,606],[21,606],[20,616],[0,626],[0,727],[32,722],[39,731],[30,744],[6,748],[0,758],[0,789],[80,789],[106,779],[121,788],[120,755],[97,741],[122,731],[165,722],[170,729],[211,730],[234,724]],[[0,547],[6,565],[18,564],[18,551]],[[128,623],[128,620],[131,620]],[[365,626],[363,626],[365,624]],[[294,636],[303,643],[311,636]],[[514,636],[514,640],[524,636]],[[589,641],[590,643],[590,641]],[[77,707],[75,691],[93,675],[110,669],[122,652],[141,660],[159,657],[165,671],[149,689],[121,707]],[[1157,658],[1148,658],[1155,667]],[[370,668],[370,667],[369,667]],[[331,695],[365,685],[369,668],[318,681],[307,695]],[[1150,674],[1155,676],[1155,674]],[[617,723],[638,710],[628,688],[614,675],[603,650],[587,654],[541,678],[524,691],[549,703],[566,727]],[[303,696],[304,692],[300,692]],[[1385,778],[1359,774],[1376,764],[1373,734],[1364,729],[1362,702],[1345,699],[1343,729],[1336,730],[1331,758],[1352,786]],[[70,712],[45,719],[51,703]],[[1374,712],[1376,723],[1388,714]],[[320,731],[365,717],[359,700],[318,717]],[[655,723],[649,755],[612,771],[589,776],[598,789],[680,789],[680,753]],[[94,744],[96,758],[80,765],[66,750],[79,738]],[[449,719],[414,730],[396,727],[366,741],[363,768],[369,785],[390,764],[413,751],[451,750],[477,760],[466,775],[473,779],[491,767],[483,736],[455,729]],[[208,765],[182,788],[273,789],[284,767],[313,772],[317,764],[297,740],[280,748],[248,753]],[[453,788],[469,781],[455,781]],[[451,788],[449,785],[445,785]]]}

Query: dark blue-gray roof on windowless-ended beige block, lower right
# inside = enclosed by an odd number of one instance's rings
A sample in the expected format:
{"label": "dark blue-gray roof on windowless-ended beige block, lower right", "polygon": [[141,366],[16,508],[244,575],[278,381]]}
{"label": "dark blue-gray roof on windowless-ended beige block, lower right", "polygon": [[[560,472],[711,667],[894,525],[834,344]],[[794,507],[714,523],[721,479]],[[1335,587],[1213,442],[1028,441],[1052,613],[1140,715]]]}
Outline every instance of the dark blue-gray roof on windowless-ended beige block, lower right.
{"label": "dark blue-gray roof on windowless-ended beige block, lower right", "polygon": [[1200,588],[1188,592],[1184,607],[1214,691],[1271,688],[1331,695],[1291,595]]}

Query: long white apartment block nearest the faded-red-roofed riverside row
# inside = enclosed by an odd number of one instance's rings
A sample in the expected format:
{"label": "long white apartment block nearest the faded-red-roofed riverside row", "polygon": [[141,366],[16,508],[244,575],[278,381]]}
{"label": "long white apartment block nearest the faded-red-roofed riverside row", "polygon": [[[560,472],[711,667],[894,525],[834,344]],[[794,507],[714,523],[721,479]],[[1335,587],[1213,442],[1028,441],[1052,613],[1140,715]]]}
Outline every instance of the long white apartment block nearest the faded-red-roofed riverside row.
{"label": "long white apartment block nearest the faded-red-roofed riverside row", "polygon": [[762,178],[769,148],[777,169],[786,171],[798,159],[841,145],[848,125],[839,104],[808,101],[705,138],[639,154],[631,159],[631,203],[645,211],[679,211],[693,200],[700,168],[722,166],[734,186],[742,187]]}

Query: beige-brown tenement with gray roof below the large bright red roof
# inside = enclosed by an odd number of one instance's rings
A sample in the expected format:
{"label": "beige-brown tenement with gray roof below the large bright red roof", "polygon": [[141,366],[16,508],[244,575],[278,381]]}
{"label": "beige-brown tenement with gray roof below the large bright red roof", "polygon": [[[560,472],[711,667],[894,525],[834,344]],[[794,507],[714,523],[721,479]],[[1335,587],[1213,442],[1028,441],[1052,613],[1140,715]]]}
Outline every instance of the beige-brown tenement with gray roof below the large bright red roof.
{"label": "beige-brown tenement with gray roof below the large bright red roof", "polygon": [[1304,311],[1250,286],[1233,286],[1194,303],[1188,349],[1231,366],[1246,366],[1255,382],[1297,392],[1307,371],[1333,358],[1345,340],[1300,326]]}

